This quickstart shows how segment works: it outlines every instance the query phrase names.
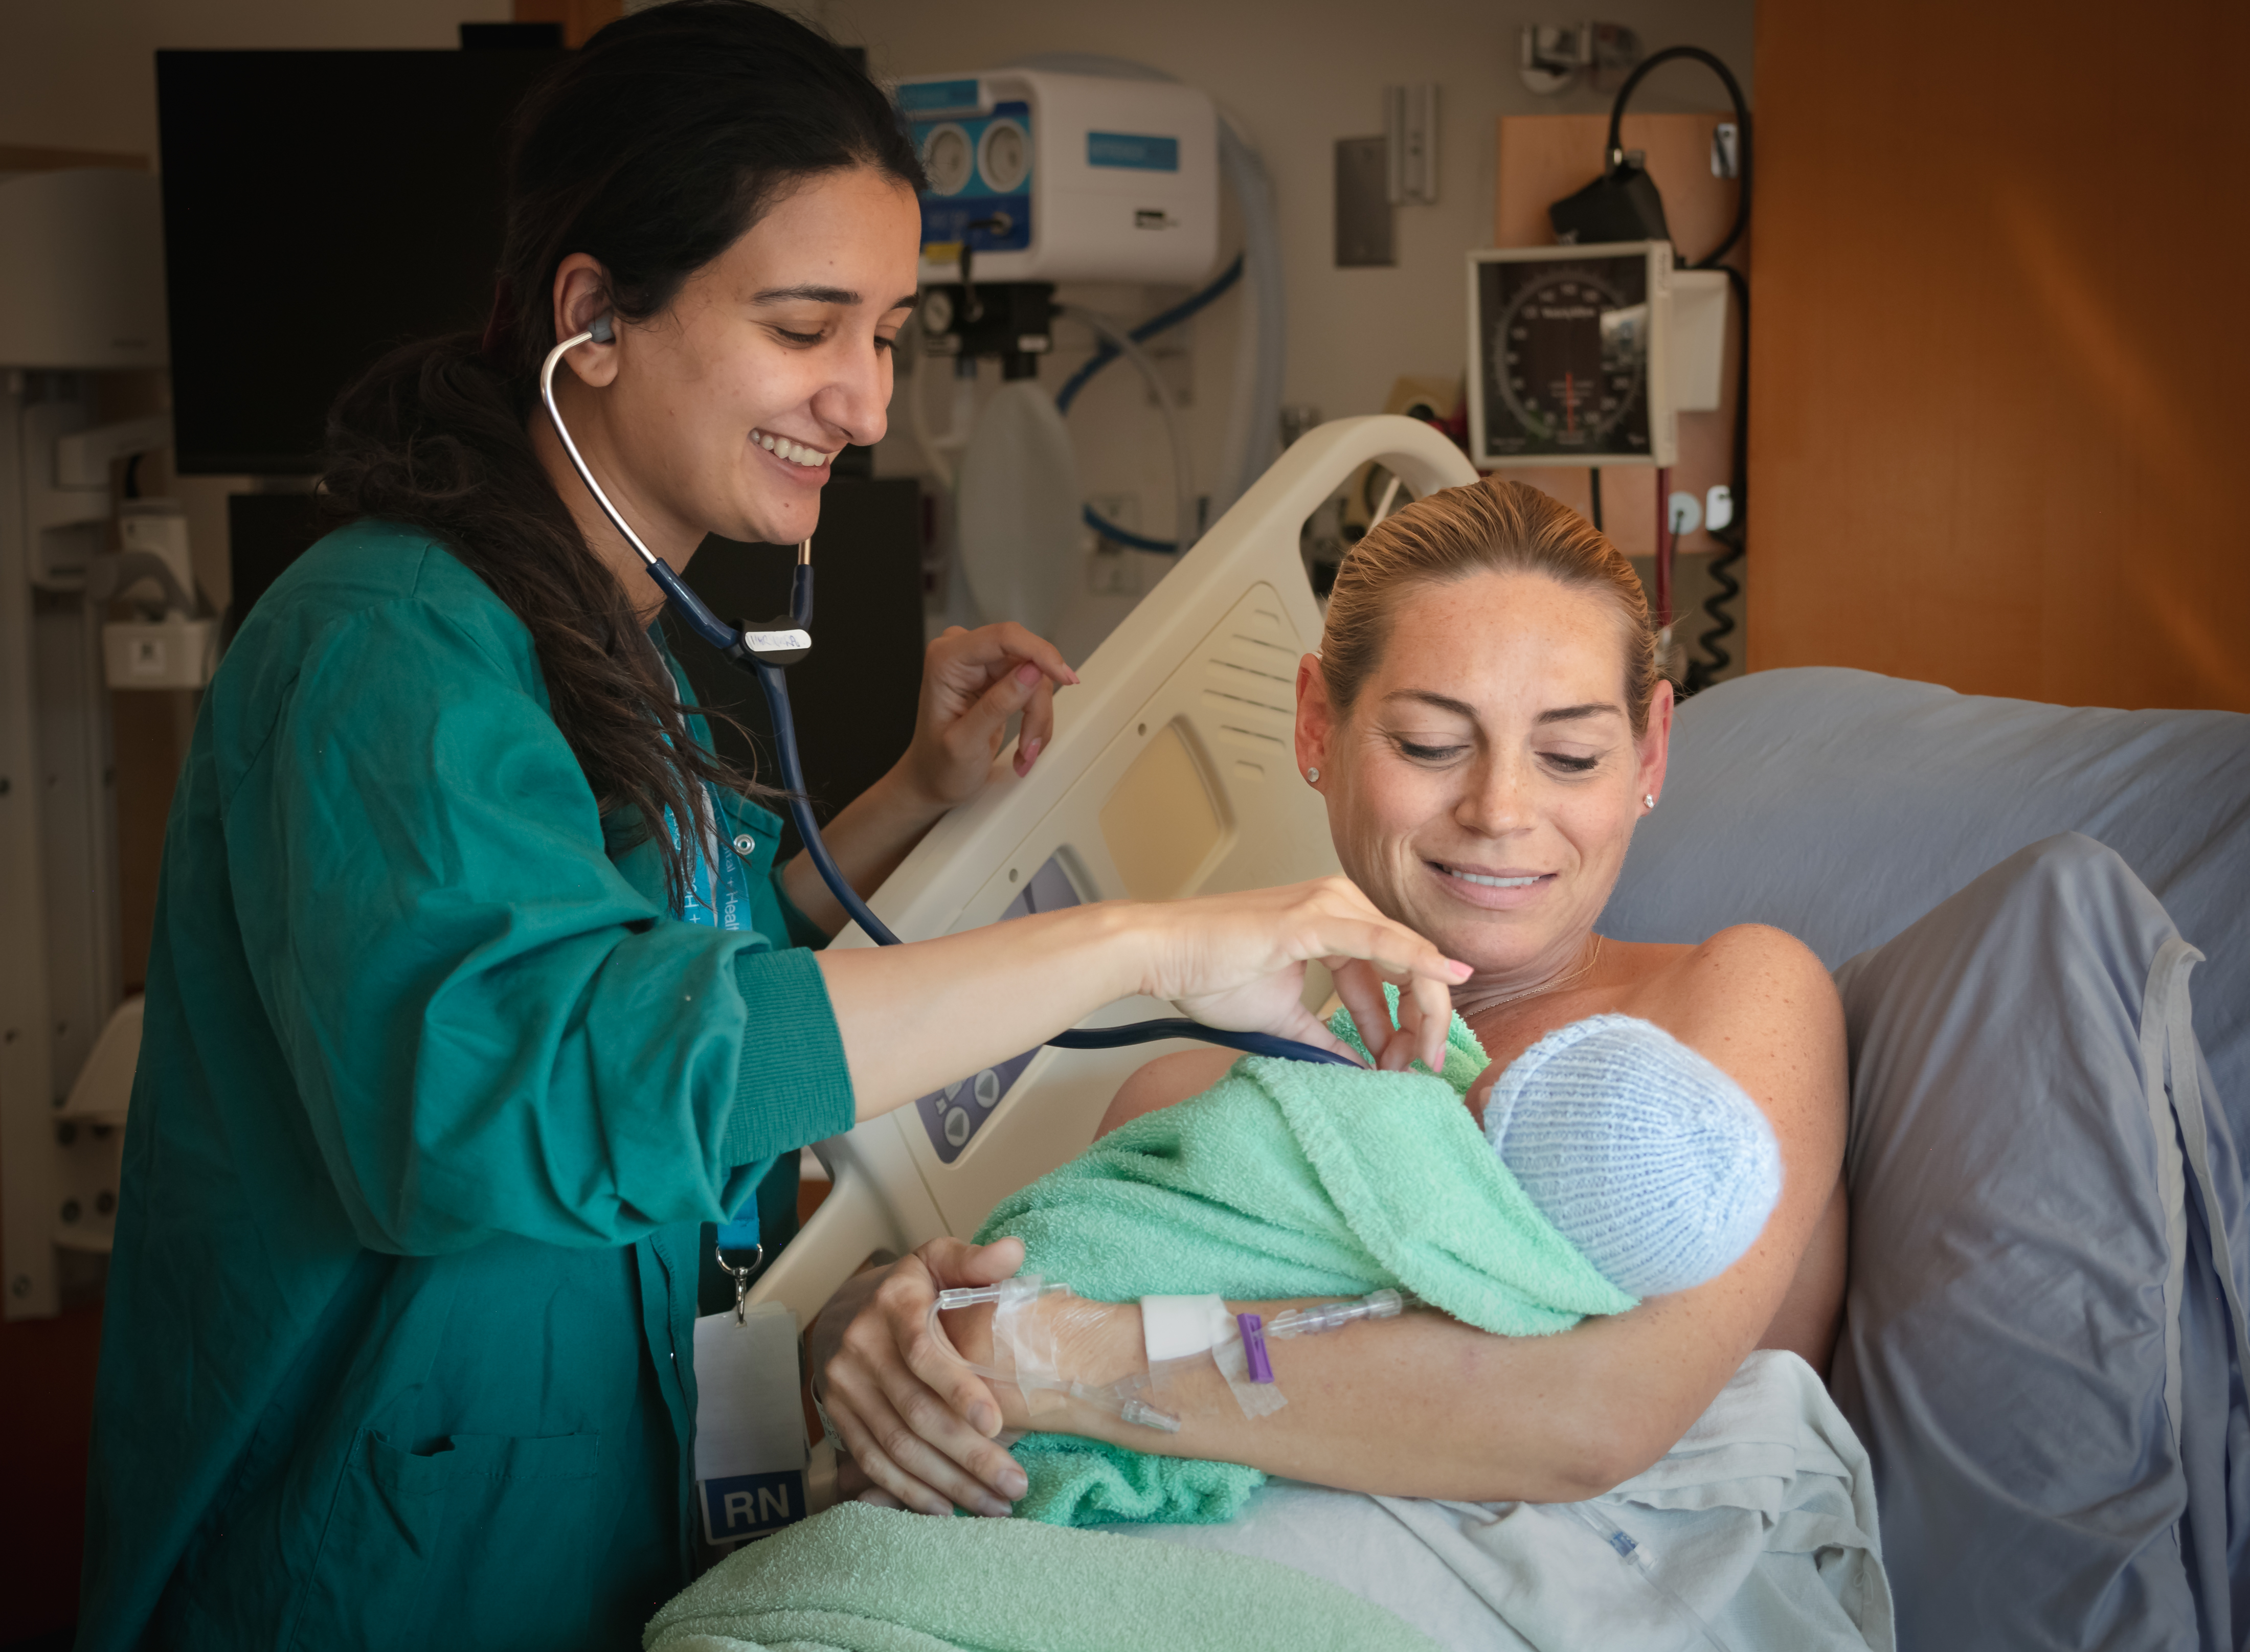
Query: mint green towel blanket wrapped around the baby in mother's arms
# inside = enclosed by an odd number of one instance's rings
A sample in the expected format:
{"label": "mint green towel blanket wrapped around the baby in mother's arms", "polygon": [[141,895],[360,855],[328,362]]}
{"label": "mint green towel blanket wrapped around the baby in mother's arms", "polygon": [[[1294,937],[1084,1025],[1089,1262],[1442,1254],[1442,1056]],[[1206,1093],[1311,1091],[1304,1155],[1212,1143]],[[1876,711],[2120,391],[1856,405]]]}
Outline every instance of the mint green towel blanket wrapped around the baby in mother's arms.
{"label": "mint green towel blanket wrapped around the baby in mother's arms", "polygon": [[[1348,1015],[1334,1031],[1359,1047]],[[1634,1299],[1555,1231],[1462,1105],[1483,1069],[1458,1015],[1442,1076],[1244,1056],[1001,1200],[976,1238],[1015,1233],[1026,1272],[1098,1301],[1390,1285],[1503,1337],[1624,1312]],[[1222,1521],[1264,1481],[1066,1434],[1028,1434],[1015,1456],[1030,1479],[1017,1515],[1055,1526]]]}

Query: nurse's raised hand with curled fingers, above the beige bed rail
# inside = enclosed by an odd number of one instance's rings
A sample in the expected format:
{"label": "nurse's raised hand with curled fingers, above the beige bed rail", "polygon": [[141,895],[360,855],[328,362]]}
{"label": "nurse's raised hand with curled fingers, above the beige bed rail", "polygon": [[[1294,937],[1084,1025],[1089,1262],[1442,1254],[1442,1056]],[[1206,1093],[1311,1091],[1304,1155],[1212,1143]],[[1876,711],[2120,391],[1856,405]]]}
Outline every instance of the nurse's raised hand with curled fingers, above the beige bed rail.
{"label": "nurse's raised hand with curled fingers, above the beige bed rail", "polygon": [[1030,774],[1055,734],[1055,689],[1078,673],[1055,644],[1022,626],[952,626],[922,653],[922,702],[914,713],[914,743],[898,763],[900,779],[938,812],[983,790],[1008,738],[1008,718],[1024,713],[1015,772]]}

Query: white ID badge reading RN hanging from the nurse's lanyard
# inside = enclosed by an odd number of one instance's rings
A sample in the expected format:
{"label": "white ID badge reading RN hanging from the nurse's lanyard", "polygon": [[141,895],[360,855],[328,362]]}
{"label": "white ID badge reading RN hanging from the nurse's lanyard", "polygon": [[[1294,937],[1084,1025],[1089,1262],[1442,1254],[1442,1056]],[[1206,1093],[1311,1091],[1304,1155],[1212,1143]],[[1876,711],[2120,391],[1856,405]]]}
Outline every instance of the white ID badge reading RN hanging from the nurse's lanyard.
{"label": "white ID badge reading RN hanging from the nurse's lanyard", "polygon": [[695,1501],[711,1544],[806,1517],[796,1314],[758,1303],[695,1321]]}

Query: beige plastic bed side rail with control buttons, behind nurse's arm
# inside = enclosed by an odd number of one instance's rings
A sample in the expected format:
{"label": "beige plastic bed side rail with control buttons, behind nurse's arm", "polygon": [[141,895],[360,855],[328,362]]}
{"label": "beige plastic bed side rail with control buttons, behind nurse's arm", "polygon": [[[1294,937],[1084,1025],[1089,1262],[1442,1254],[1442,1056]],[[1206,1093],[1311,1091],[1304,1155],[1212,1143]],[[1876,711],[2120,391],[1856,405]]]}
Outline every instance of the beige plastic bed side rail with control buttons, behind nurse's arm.
{"label": "beige plastic bed side rail with control buttons, behind nurse's arm", "polygon": [[[1361,464],[1413,497],[1474,482],[1413,419],[1339,419],[1300,437],[1197,540],[1055,698],[1037,767],[1008,763],[875,894],[907,941],[1089,900],[1177,900],[1336,871],[1328,812],[1296,774],[1296,666],[1321,610],[1298,529]],[[857,927],[832,945],[873,945]],[[1325,977],[1307,995],[1328,997]],[[1087,1026],[1177,1015],[1136,997]],[[868,1256],[970,1236],[1008,1193],[1080,1152],[1125,1078],[1184,1042],[1026,1051],[814,1148],[835,1186],[752,1296],[810,1323]]]}

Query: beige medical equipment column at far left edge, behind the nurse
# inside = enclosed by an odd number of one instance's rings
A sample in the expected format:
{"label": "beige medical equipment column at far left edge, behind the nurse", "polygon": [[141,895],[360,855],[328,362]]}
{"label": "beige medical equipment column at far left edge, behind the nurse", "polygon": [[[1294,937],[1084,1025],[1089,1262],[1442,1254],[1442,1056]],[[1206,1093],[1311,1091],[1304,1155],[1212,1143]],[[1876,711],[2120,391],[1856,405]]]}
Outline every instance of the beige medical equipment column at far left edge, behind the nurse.
{"label": "beige medical equipment column at far left edge, behind the nurse", "polygon": [[[133,533],[144,531],[128,533],[128,556],[108,549],[112,461],[164,446],[169,421],[99,425],[97,376],[164,360],[158,180],[110,169],[0,178],[0,1312],[9,1319],[56,1312],[56,1247],[106,1251],[117,1204],[115,1123],[137,1015],[117,1004],[101,621],[133,560]],[[144,578],[169,581],[178,599],[166,612],[194,621],[184,536],[164,529],[140,556]]]}

